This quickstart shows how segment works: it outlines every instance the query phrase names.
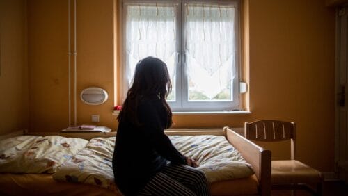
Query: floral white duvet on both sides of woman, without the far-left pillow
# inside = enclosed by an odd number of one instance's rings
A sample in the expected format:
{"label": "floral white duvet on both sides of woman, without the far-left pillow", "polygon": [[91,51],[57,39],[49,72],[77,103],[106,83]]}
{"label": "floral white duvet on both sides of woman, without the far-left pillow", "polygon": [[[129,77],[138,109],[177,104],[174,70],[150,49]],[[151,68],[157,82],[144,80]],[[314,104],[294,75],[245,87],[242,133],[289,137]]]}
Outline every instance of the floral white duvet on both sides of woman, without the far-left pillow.
{"label": "floral white duvet on both sides of woman, without the far-left pillow", "polygon": [[[185,156],[198,161],[207,180],[238,179],[253,174],[250,165],[223,136],[169,136]],[[86,148],[66,161],[53,175],[58,181],[88,183],[114,190],[112,152],[115,137],[93,138]]]}

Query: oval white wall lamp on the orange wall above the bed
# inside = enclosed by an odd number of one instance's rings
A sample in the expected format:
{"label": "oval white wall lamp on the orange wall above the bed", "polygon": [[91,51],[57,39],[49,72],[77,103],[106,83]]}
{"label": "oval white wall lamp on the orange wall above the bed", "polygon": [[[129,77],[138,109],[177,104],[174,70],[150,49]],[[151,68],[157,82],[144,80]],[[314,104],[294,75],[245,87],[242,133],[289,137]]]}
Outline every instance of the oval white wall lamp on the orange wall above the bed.
{"label": "oval white wall lamp on the orange wall above the bed", "polygon": [[82,90],[80,97],[84,104],[100,105],[108,99],[108,93],[102,88],[90,87]]}

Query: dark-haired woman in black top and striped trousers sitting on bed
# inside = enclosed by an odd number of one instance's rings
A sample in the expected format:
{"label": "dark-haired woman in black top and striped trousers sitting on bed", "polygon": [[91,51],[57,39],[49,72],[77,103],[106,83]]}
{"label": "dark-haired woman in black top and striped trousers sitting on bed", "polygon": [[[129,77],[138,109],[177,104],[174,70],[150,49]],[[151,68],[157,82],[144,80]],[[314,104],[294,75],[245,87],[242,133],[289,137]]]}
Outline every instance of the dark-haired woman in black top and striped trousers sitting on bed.
{"label": "dark-haired woman in black top and striped trousers sitting on bed", "polygon": [[209,195],[196,161],[182,156],[164,134],[172,124],[166,63],[147,57],[136,65],[118,115],[113,174],[125,195]]}

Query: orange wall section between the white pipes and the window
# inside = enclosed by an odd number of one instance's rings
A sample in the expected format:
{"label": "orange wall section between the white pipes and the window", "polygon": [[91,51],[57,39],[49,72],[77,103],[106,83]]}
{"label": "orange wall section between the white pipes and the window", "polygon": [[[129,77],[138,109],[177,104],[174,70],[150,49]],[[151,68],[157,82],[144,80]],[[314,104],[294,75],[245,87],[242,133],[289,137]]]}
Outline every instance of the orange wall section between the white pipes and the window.
{"label": "orange wall section between the white pipes and the window", "polygon": [[113,96],[113,0],[77,1],[77,92],[97,86],[109,94],[106,103],[88,106],[77,99],[77,124],[90,124],[100,115],[100,125],[116,129],[111,115]]}

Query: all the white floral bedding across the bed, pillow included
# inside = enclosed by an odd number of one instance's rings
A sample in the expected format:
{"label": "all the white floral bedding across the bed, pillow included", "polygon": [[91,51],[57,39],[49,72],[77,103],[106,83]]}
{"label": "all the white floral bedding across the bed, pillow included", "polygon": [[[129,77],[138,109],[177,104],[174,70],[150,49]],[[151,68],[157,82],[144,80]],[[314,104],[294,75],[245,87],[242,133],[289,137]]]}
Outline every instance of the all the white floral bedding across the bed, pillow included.
{"label": "all the white floral bedding across the bed, pillow included", "polygon": [[[184,156],[196,159],[198,170],[214,181],[248,177],[251,166],[224,136],[169,136]],[[116,190],[112,156],[115,137],[89,142],[61,136],[19,136],[0,141],[0,172],[54,173],[57,181],[88,183]]]}

